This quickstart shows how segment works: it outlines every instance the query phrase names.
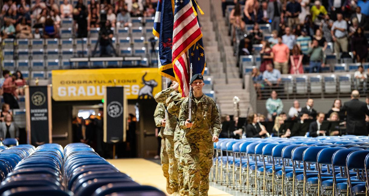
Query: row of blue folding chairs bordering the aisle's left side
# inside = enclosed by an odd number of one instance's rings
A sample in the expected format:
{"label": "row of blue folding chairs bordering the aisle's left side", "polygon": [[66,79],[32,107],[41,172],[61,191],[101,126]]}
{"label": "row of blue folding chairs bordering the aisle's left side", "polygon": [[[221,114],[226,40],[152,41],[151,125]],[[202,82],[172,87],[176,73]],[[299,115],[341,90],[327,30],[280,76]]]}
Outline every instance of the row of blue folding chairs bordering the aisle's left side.
{"label": "row of blue folding chairs bordering the aisle's left side", "polygon": [[65,187],[77,196],[165,196],[162,191],[154,187],[142,186],[134,182],[86,144],[68,144],[64,148],[64,154]]}

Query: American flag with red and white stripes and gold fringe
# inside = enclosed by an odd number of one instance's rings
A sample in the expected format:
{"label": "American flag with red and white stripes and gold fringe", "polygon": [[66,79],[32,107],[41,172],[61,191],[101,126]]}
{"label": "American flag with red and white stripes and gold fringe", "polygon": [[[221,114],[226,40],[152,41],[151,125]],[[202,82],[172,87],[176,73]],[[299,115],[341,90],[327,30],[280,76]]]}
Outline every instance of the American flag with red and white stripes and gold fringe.
{"label": "American flag with red and white stripes and gold fringe", "polygon": [[[187,63],[187,50],[201,39],[199,22],[194,13],[191,0],[174,0],[174,25],[172,64],[176,80],[179,83],[182,97],[189,93],[189,65]],[[197,74],[194,72],[193,74]]]}

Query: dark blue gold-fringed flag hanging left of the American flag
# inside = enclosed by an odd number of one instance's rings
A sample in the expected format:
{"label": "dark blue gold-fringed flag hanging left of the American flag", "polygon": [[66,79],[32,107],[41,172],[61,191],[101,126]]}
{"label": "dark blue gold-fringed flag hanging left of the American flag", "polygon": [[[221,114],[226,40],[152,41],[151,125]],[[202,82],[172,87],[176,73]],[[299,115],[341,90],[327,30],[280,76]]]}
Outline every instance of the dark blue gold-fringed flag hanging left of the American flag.
{"label": "dark blue gold-fringed flag hanging left of the American flag", "polygon": [[174,2],[159,0],[153,34],[159,38],[159,74],[176,80],[172,65]]}

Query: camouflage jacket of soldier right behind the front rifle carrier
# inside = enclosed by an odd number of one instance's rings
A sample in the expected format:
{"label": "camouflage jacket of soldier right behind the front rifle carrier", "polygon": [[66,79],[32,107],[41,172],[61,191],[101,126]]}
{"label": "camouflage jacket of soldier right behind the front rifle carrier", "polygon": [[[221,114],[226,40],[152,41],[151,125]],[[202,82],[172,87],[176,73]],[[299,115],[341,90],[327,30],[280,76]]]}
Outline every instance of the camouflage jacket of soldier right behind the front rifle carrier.
{"label": "camouflage jacket of soldier right behind the front rifle carrier", "polygon": [[[165,104],[167,105],[167,110],[170,114],[175,115],[176,116],[176,120],[178,119],[179,116],[179,109],[181,107],[181,104],[183,102],[184,99],[182,98],[182,94],[177,93],[175,95],[170,96],[168,99],[166,99]],[[180,140],[180,135],[181,132],[183,132],[183,129],[180,129],[178,124],[176,126],[176,129],[174,131],[174,141],[178,141]],[[182,133],[183,135],[183,133]]]}

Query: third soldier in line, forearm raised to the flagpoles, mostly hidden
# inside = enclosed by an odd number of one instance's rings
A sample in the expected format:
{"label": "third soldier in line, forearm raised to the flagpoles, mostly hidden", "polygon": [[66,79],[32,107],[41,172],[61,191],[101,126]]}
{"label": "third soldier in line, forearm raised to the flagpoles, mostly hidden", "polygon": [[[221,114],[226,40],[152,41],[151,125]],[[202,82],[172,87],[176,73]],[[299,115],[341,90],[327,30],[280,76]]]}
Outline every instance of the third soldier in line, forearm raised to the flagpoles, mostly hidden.
{"label": "third soldier in line, forearm raised to the flagpoles, mostly hidden", "polygon": [[[165,104],[166,99],[174,94],[177,94],[178,83],[172,82],[172,86],[158,92],[155,95],[155,101],[158,103]],[[166,125],[163,130],[163,137],[165,137],[165,148],[169,158],[169,183],[175,195],[179,195],[179,184],[178,184],[178,163],[174,155],[174,132],[177,126],[177,119],[174,115],[168,113],[166,119]],[[168,192],[169,193],[169,192]],[[171,193],[169,193],[171,194]]]}

